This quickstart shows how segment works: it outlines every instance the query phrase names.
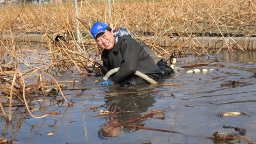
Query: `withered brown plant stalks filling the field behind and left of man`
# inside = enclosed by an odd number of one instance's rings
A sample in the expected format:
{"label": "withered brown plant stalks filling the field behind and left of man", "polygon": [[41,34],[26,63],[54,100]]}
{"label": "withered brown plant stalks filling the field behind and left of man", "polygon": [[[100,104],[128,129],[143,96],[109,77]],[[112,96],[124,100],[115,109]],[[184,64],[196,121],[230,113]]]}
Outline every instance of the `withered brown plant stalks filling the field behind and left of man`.
{"label": "withered brown plant stalks filling the field behind and left of man", "polygon": [[[161,48],[155,37],[171,41],[171,37],[183,39],[186,36],[190,41],[209,34],[232,39],[235,35],[249,38],[256,33],[256,4],[252,0],[115,0],[111,19],[106,2],[79,2],[77,19],[74,3],[1,7],[1,116],[11,120],[12,108],[18,106],[27,107],[32,115],[33,100],[46,96],[47,88],[55,88],[63,97],[52,101],[65,100],[67,105],[71,105],[61,91],[65,84],[59,84],[53,75],[68,71],[74,76],[72,84],[75,76],[101,75],[101,49],[90,35],[90,27],[97,21],[106,22],[114,29],[123,25],[142,40],[145,35],[152,36],[144,42],[165,59],[174,51],[185,56],[186,48],[194,49],[199,56],[208,55],[208,48],[203,43],[186,45],[185,42],[175,43],[176,40]],[[79,22],[78,30],[76,21]],[[47,43],[34,47],[29,40],[14,38],[28,34],[43,34]],[[234,43],[222,41],[225,43],[223,48],[230,52],[236,49],[247,51],[243,45],[234,47]],[[203,48],[203,51],[199,52],[197,48]],[[52,114],[45,116],[53,117]]]}

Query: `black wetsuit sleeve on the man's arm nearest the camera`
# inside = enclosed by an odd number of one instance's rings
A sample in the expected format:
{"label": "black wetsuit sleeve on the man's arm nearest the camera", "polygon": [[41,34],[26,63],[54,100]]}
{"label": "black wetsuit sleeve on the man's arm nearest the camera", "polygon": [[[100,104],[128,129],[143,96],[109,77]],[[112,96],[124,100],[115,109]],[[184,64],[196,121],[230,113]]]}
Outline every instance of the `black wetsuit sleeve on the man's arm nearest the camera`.
{"label": "black wetsuit sleeve on the man's arm nearest the camera", "polygon": [[120,51],[123,55],[120,69],[110,77],[112,83],[121,83],[130,75],[136,72],[137,63],[143,47],[132,38],[123,40]]}

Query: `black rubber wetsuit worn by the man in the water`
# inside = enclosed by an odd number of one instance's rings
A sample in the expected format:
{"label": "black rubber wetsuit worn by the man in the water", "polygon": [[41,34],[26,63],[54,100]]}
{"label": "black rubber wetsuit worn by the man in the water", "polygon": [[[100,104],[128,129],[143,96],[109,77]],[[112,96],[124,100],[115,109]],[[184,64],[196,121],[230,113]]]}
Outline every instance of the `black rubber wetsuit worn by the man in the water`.
{"label": "black rubber wetsuit worn by the man in the water", "polygon": [[103,50],[101,59],[103,60],[103,76],[109,70],[120,67],[117,73],[109,77],[112,84],[135,86],[148,83],[141,77],[134,75],[136,71],[144,73],[155,81],[164,77],[161,69],[157,67],[151,56],[144,51],[143,46],[126,35],[118,38],[112,50]]}

